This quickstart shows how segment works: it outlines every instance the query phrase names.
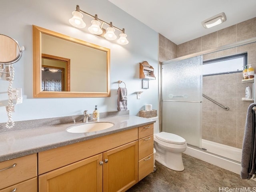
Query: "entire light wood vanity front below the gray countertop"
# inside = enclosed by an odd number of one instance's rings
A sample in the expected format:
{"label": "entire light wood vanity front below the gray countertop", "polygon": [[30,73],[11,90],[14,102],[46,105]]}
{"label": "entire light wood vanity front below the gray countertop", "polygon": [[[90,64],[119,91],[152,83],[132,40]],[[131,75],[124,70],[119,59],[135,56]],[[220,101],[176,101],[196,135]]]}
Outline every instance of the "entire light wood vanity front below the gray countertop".
{"label": "entire light wood vanity front below the gray countertop", "polygon": [[0,192],[126,191],[152,172],[153,140],[149,124],[0,162]]}

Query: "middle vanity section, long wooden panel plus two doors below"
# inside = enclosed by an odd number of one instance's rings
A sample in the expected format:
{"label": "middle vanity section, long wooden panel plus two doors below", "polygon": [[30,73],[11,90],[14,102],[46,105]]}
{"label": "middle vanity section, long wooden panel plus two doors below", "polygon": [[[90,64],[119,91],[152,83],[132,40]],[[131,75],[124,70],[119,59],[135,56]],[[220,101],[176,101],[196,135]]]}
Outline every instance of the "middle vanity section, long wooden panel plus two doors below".
{"label": "middle vanity section, long wooden panel plus two doors below", "polygon": [[38,169],[39,192],[126,191],[138,182],[138,128],[40,152]]}

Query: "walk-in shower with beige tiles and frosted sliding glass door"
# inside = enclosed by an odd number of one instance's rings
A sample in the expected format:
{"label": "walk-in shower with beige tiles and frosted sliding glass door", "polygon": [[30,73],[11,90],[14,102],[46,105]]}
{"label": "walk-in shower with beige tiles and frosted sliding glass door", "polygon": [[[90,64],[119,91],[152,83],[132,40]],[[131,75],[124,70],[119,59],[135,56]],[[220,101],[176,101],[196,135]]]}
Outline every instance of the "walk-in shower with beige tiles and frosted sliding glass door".
{"label": "walk-in shower with beige tiles and frosted sliding glass door", "polygon": [[[246,112],[254,102],[244,100],[252,82],[242,81],[242,70],[247,61],[256,68],[255,42],[252,38],[162,62],[162,131],[182,136],[189,148],[239,164]],[[240,58],[241,64],[205,74],[204,65],[220,58]]]}

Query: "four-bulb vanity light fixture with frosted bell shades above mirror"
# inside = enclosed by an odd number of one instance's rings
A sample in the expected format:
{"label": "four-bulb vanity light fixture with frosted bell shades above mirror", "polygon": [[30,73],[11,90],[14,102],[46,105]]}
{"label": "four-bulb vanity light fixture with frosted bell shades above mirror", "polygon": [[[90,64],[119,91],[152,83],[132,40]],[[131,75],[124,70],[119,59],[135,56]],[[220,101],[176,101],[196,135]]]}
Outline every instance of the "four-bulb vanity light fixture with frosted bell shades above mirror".
{"label": "four-bulb vanity light fixture with frosted bell shades above mirror", "polygon": [[[120,38],[117,40],[118,44],[126,45],[129,43],[129,41],[126,39],[127,35],[124,33],[124,28],[121,30],[120,28],[113,26],[112,22],[108,23],[104,20],[99,19],[97,14],[95,14],[95,16],[92,16],[91,14],[80,10],[79,5],[77,5],[76,10],[72,12],[73,17],[69,19],[69,23],[77,28],[85,28],[86,24],[82,20],[82,13],[94,18],[94,20],[91,21],[92,25],[88,28],[90,33],[106,38],[108,40],[115,40],[117,38],[115,31],[119,30],[122,33],[119,34]],[[104,24],[109,26],[106,30],[102,28]]]}

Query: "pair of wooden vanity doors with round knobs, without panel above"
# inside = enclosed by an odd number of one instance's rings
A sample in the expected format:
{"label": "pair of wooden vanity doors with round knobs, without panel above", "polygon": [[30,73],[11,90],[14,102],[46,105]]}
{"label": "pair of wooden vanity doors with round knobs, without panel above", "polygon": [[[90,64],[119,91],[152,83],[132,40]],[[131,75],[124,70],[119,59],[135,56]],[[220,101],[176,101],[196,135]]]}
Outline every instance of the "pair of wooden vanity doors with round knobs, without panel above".
{"label": "pair of wooden vanity doors with round knobs, without panel above", "polygon": [[138,141],[47,172],[38,181],[39,192],[125,191],[138,182]]}

